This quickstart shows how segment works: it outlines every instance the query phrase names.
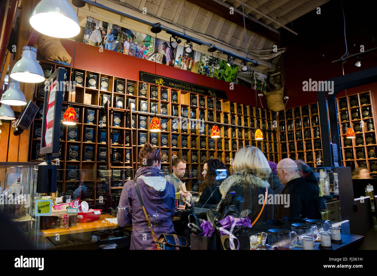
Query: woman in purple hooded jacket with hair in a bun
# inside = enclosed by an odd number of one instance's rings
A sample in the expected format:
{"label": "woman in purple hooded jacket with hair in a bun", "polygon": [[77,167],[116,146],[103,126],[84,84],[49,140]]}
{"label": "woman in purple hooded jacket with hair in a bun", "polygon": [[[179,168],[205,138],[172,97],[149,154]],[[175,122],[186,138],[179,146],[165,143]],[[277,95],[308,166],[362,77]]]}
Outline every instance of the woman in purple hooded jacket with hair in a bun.
{"label": "woman in purple hooded jacket with hair in a bun", "polygon": [[[139,164],[141,168],[137,170],[135,179],[137,178],[140,195],[157,238],[163,233],[175,233],[173,227],[175,189],[174,185],[163,177],[161,152],[150,144],[145,144],[139,152]],[[131,250],[155,248],[134,180],[124,184],[117,218],[120,227],[132,224]]]}

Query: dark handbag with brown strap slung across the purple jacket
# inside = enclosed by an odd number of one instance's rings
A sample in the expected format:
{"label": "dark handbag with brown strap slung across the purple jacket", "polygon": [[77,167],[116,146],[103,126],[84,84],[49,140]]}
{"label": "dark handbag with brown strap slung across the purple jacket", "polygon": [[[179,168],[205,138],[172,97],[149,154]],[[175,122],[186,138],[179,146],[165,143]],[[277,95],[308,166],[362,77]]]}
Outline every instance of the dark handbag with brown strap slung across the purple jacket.
{"label": "dark handbag with brown strap slung across the purple jacket", "polygon": [[143,199],[141,198],[137,178],[134,180],[136,193],[138,194],[138,198],[141,204],[141,208],[143,209],[145,219],[147,221],[147,225],[150,228],[150,232],[152,232],[153,241],[157,246],[157,250],[179,250],[179,248],[187,247],[187,240],[185,237],[177,236],[175,234],[161,234],[157,239],[157,236],[152,228],[152,223],[147,215],[147,211],[144,206]]}

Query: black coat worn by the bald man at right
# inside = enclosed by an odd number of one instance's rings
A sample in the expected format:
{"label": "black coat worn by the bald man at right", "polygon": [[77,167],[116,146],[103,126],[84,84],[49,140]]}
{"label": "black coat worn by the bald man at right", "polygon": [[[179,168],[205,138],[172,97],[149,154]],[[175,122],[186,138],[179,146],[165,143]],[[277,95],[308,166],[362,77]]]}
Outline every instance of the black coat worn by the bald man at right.
{"label": "black coat worn by the bald man at right", "polygon": [[313,199],[314,191],[302,177],[292,179],[282,192],[283,196],[289,196],[289,207],[284,204],[278,206],[278,219],[285,216],[302,216],[302,218],[316,218],[316,205]]}

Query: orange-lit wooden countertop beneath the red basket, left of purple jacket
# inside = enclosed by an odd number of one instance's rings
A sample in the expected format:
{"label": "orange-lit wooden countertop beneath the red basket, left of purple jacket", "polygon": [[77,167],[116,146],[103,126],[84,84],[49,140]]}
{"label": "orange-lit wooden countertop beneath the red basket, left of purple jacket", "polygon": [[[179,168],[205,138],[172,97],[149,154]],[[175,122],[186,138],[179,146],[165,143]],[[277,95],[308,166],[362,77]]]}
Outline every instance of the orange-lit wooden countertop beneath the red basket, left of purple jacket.
{"label": "orange-lit wooden countertop beneath the red basket, left of purple jacket", "polygon": [[[87,222],[87,223],[80,223],[78,222],[76,226],[70,226],[68,229],[60,229],[60,228],[54,228],[54,229],[48,229],[48,230],[41,230],[41,236],[42,237],[52,237],[56,234],[59,235],[67,235],[67,234],[75,234],[75,233],[81,233],[81,232],[92,232],[92,231],[98,231],[98,230],[106,230],[106,229],[114,229],[118,228],[117,223],[112,223],[110,221],[107,221],[106,218],[115,218],[110,215],[101,215],[100,219],[97,221]],[[180,218],[174,217],[173,221],[179,220]],[[126,228],[126,227],[124,227]],[[132,231],[132,225],[130,227],[126,228],[127,230]]]}

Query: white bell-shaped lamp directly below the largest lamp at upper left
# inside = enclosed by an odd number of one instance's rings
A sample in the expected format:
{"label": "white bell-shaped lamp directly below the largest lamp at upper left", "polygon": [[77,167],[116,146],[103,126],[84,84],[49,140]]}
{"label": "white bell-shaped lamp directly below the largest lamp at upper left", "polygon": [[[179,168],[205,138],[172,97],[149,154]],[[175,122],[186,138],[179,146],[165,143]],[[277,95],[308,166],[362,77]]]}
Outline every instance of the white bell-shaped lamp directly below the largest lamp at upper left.
{"label": "white bell-shaped lamp directly below the largest lamp at upper left", "polygon": [[23,83],[40,83],[44,81],[42,67],[37,61],[37,49],[32,46],[23,46],[22,57],[14,64],[9,77]]}

